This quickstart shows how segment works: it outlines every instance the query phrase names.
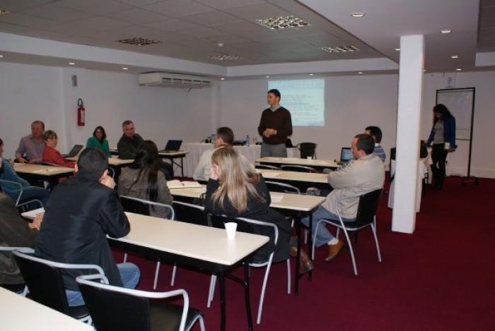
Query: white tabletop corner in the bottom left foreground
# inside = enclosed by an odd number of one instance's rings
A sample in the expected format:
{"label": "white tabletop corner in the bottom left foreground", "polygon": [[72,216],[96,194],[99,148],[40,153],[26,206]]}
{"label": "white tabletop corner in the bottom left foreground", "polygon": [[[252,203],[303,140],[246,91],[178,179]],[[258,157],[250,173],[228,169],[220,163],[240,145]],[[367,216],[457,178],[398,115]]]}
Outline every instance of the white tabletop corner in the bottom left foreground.
{"label": "white tabletop corner in the bottom left foreground", "polygon": [[0,330],[90,331],[91,325],[0,287]]}

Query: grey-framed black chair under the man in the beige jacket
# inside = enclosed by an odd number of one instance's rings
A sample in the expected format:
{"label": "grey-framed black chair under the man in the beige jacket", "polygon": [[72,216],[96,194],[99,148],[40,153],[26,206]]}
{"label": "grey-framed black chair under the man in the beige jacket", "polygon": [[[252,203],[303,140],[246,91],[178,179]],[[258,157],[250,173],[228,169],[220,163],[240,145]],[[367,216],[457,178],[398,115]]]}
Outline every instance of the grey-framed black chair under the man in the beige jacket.
{"label": "grey-framed black chair under the man in the beige jacket", "polygon": [[[316,224],[315,233],[313,234],[313,256],[315,256],[315,239],[316,234],[318,234],[318,228],[320,226],[325,226],[325,224],[331,224],[337,227],[337,238],[339,237],[339,229],[342,229],[346,237],[347,245],[349,246],[349,251],[351,252],[352,267],[354,269],[354,275],[358,275],[358,269],[356,267],[356,258],[354,258],[354,251],[352,249],[351,239],[349,237],[349,231],[359,231],[365,227],[371,227],[371,232],[373,233],[373,238],[375,239],[376,254],[378,255],[378,262],[382,262],[382,257],[380,254],[380,245],[378,244],[378,237],[376,236],[376,211],[378,210],[378,203],[380,202],[380,195],[383,189],[371,191],[363,195],[351,195],[344,198],[340,198],[335,202],[335,210],[337,210],[338,220],[334,219],[319,219]],[[343,200],[359,198],[358,212],[356,219],[353,222],[344,222],[339,211],[339,203]]]}

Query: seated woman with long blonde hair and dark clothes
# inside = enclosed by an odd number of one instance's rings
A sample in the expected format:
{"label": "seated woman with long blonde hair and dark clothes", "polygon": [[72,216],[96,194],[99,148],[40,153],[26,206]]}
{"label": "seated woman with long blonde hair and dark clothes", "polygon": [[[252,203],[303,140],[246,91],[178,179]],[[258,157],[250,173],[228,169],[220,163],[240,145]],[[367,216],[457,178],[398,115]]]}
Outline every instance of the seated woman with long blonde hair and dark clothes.
{"label": "seated woman with long blonde hair and dark clothes", "polygon": [[[214,215],[245,217],[276,224],[279,240],[274,245],[274,232],[254,226],[255,234],[269,236],[271,241],[257,251],[254,261],[262,262],[274,251],[274,262],[289,258],[291,223],[269,207],[270,193],[262,176],[256,173],[248,160],[240,157],[233,148],[219,148],[211,155],[211,169],[206,186],[205,210]],[[301,254],[301,272],[313,269],[308,256]]]}

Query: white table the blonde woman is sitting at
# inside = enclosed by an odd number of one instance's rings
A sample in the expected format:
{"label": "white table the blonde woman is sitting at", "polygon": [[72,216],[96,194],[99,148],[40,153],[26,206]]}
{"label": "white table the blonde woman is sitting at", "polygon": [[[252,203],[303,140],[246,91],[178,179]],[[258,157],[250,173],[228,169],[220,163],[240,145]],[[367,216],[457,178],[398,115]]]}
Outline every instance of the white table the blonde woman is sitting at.
{"label": "white table the blonde woman is sitting at", "polygon": [[[203,193],[206,192],[206,186],[200,188],[170,188],[170,194],[173,195],[174,200],[183,200],[187,203],[191,203],[194,198],[199,198]],[[272,203],[270,207],[278,210],[284,211],[284,214],[289,213],[294,218],[294,224],[296,226],[296,234],[298,236],[298,255],[296,258],[296,265],[299,265],[301,259],[301,219],[303,217],[310,217],[310,225],[313,222],[312,213],[319,205],[325,201],[325,197],[316,195],[300,195],[293,193],[281,193],[281,192],[270,192],[270,197]],[[308,231],[311,234],[311,227]],[[312,236],[309,236],[309,247],[311,246]],[[311,251],[310,251],[311,255]],[[299,268],[295,269],[294,277],[294,295],[299,294]],[[309,279],[311,279],[312,273],[309,273]]]}

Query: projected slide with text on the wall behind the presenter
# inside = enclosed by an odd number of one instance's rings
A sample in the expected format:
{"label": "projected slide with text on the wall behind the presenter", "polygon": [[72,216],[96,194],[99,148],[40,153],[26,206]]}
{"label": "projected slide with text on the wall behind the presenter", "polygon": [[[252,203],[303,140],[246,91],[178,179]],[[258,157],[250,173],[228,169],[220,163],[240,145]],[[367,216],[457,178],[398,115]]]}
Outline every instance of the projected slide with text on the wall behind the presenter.
{"label": "projected slide with text on the wall behind the presenter", "polygon": [[289,109],[293,126],[325,126],[325,80],[269,80],[268,90],[280,91],[280,104]]}

